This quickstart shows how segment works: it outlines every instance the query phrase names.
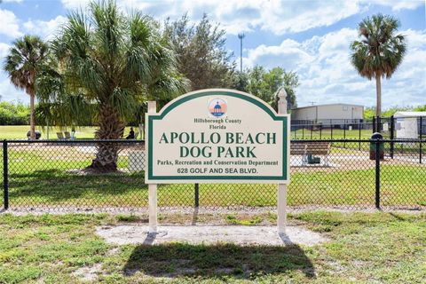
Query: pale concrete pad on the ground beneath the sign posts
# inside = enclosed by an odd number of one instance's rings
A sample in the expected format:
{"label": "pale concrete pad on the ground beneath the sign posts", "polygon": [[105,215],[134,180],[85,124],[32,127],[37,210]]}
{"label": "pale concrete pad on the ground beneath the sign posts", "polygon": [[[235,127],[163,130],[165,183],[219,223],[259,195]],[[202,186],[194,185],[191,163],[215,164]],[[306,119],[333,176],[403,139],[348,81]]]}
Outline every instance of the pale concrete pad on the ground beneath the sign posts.
{"label": "pale concrete pad on the ground beneath the sign posts", "polygon": [[309,246],[327,241],[319,233],[296,226],[288,226],[283,235],[278,234],[276,226],[264,225],[164,225],[159,227],[156,234],[149,234],[147,225],[114,225],[99,227],[97,233],[106,242],[119,245],[229,242],[238,245]]}

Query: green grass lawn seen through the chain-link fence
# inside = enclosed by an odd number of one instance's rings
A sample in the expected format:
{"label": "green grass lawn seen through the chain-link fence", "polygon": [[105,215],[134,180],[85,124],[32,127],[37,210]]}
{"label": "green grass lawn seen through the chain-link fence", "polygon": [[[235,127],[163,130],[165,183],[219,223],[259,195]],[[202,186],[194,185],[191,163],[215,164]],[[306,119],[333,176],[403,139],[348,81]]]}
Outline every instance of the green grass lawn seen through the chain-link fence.
{"label": "green grass lawn seen through the chain-link fence", "polygon": [[[354,151],[354,150],[345,150]],[[91,164],[93,154],[76,148],[9,150],[10,207],[146,207],[144,172],[82,176],[75,170]],[[2,171],[0,165],[0,172]],[[128,168],[126,155],[119,168]],[[383,206],[426,205],[424,165],[382,166]],[[201,184],[201,206],[275,206],[277,185]],[[0,205],[3,199],[0,200]],[[162,207],[193,206],[194,185],[160,185]],[[369,206],[375,204],[375,169],[297,171],[288,186],[290,206]]]}

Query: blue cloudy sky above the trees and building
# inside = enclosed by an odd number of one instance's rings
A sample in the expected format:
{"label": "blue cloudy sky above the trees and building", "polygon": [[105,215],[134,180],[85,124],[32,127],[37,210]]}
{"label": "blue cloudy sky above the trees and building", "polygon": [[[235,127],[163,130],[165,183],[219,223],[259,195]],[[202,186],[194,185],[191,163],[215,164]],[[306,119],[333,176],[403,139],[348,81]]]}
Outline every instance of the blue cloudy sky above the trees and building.
{"label": "blue cloudy sky above the trees and building", "polygon": [[[12,41],[24,34],[49,40],[67,13],[84,7],[86,0],[3,0],[0,4],[0,57]],[[117,0],[123,11],[141,10],[163,21],[187,12],[193,21],[207,12],[227,32],[227,49],[239,67],[244,32],[243,67],[263,65],[296,71],[299,106],[325,103],[375,105],[375,82],[361,78],[349,61],[349,44],[357,39],[357,25],[382,12],[397,17],[406,36],[406,58],[390,80],[383,82],[383,106],[426,104],[426,7],[424,0]],[[3,100],[28,102],[0,72]]]}

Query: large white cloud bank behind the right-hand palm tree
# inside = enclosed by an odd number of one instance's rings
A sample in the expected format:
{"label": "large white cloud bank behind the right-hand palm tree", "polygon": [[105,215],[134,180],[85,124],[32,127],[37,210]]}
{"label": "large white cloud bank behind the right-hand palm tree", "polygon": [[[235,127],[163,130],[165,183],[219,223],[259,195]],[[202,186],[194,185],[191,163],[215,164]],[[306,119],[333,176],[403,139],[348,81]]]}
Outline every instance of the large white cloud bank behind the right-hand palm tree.
{"label": "large white cloud bank behind the right-hand palm tree", "polygon": [[[426,102],[426,30],[401,33],[407,39],[406,58],[390,80],[383,80],[384,107]],[[260,45],[248,50],[244,64],[296,70],[300,76],[296,91],[299,106],[311,101],[374,106],[375,81],[360,77],[351,66],[349,44],[356,38],[355,29],[342,28],[302,43],[285,40],[278,46]]]}

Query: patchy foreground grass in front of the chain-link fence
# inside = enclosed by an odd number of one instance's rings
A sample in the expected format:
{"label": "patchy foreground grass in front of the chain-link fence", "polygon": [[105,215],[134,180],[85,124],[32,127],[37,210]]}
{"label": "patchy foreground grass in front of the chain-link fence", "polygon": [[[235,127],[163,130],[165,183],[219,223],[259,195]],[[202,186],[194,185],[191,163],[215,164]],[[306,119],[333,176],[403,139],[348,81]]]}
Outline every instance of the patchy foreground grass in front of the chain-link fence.
{"label": "patchy foreground grass in front of the chain-link fence", "polygon": [[[188,215],[162,215],[162,225]],[[209,224],[274,224],[273,213],[200,215]],[[98,226],[141,216],[0,215],[0,283],[421,283],[426,279],[426,215],[306,212],[290,225],[322,233],[313,247],[170,243],[108,244]]]}

